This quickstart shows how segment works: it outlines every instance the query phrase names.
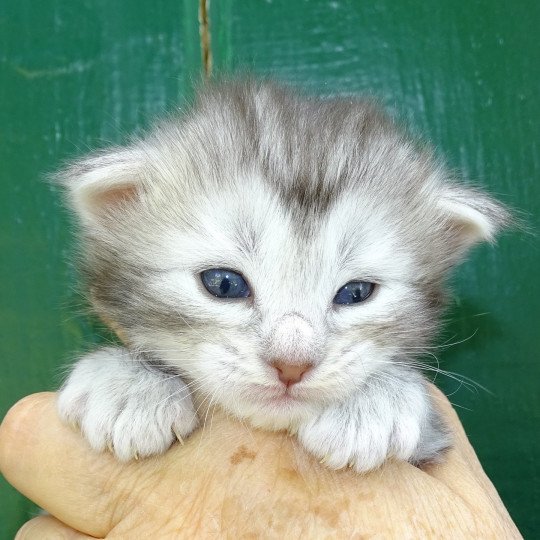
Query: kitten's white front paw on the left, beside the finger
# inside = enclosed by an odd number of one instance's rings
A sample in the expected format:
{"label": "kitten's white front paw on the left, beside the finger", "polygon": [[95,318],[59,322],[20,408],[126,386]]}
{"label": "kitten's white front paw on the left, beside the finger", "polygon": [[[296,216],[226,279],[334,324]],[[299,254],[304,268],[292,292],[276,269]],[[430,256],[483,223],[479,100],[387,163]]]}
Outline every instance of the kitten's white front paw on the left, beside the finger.
{"label": "kitten's white front paw on the left, beside the finger", "polygon": [[92,448],[109,448],[123,461],[165,452],[197,427],[185,383],[138,363],[120,348],[79,360],[57,407],[60,418],[77,425]]}

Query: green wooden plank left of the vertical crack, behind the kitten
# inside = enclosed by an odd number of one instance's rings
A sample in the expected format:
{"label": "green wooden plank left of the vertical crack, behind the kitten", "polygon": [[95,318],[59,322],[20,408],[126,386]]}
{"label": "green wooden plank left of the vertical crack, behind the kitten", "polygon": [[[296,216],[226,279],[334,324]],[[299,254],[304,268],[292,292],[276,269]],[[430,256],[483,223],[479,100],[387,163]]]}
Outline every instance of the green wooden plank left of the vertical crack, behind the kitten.
{"label": "green wooden plank left of the vertical crack, behind the kitten", "polygon": [[[44,175],[121,142],[200,72],[197,3],[3,2],[0,12],[0,414],[58,385],[98,339],[75,291],[68,218]],[[34,507],[4,480],[0,537]]]}

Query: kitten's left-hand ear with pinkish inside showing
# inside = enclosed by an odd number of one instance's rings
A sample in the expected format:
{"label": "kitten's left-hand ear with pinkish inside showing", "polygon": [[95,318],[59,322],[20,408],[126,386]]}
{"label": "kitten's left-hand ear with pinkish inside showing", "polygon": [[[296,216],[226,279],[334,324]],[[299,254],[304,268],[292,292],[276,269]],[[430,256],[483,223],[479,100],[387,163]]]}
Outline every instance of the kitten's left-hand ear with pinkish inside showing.
{"label": "kitten's left-hand ear with pinkish inside showing", "polygon": [[70,205],[82,224],[95,226],[140,198],[142,169],[141,153],[124,148],[78,161],[53,180],[66,188]]}

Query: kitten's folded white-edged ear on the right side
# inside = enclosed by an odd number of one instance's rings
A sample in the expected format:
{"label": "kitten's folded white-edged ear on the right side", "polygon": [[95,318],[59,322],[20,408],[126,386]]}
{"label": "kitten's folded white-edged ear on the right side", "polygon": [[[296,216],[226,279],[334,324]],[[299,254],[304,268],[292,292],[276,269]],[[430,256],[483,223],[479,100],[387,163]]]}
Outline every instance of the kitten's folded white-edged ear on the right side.
{"label": "kitten's folded white-edged ear on the right side", "polygon": [[511,223],[510,212],[501,203],[470,187],[444,186],[438,206],[457,241],[459,254],[478,242],[493,242]]}

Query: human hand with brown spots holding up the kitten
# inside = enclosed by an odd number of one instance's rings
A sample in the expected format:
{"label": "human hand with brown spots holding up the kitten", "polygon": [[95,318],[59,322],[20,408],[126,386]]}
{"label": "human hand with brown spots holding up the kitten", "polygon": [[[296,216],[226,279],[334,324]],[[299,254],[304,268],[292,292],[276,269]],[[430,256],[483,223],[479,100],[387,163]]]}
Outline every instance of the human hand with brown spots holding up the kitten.
{"label": "human hand with brown spots holding up the kitten", "polygon": [[0,427],[0,469],[51,516],[17,538],[521,538],[457,415],[433,393],[454,436],[445,461],[389,461],[362,476],[219,410],[184,446],[120,463],[59,421],[54,394],[29,396]]}

